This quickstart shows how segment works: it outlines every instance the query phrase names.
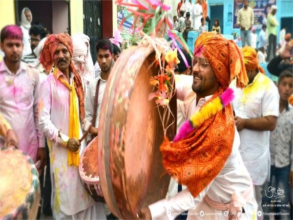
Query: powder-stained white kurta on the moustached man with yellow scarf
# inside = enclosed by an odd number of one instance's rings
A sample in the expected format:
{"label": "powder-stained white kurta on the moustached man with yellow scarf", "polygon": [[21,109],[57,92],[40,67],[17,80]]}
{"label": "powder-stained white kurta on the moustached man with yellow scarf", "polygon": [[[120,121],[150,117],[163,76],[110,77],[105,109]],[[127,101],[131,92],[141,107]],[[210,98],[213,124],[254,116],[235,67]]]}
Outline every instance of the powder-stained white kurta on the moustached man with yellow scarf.
{"label": "powder-stained white kurta on the moustached man with yellow scarf", "polygon": [[[58,77],[64,77],[58,71]],[[71,74],[70,84],[72,84]],[[40,128],[47,137],[50,152],[50,172],[52,181],[51,206],[54,219],[105,219],[102,203],[95,202],[85,191],[79,176],[78,167],[67,165],[67,149],[60,146],[58,137],[61,129],[68,135],[70,91],[53,74],[44,82],[39,109]],[[78,98],[76,97],[76,100]],[[76,103],[77,109],[78,102]],[[81,123],[79,137],[83,135]],[[85,148],[81,143],[80,156]]]}

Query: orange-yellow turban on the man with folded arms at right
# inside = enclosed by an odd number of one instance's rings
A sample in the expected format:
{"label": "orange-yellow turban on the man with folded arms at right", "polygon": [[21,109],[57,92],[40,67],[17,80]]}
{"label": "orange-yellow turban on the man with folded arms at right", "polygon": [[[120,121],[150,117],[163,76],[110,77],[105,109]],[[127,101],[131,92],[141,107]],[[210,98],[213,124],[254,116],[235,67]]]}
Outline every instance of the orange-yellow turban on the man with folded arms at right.
{"label": "orange-yellow turban on the man with folded arms at right", "polygon": [[258,64],[257,53],[251,46],[242,47],[244,56],[244,65],[246,70],[258,69],[261,73],[266,74],[262,67]]}

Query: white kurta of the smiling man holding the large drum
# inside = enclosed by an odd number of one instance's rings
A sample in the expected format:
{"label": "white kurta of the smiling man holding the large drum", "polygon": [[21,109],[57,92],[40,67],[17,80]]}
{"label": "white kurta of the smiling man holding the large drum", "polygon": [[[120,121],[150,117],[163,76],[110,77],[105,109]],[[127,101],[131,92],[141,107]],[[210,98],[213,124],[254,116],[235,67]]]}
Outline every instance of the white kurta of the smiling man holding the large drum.
{"label": "white kurta of the smiling man holding the large drum", "polygon": [[[189,90],[191,89],[190,84],[192,84],[192,76],[180,75],[176,76],[175,80],[177,98],[185,100],[190,93]],[[199,108],[210,98],[211,96],[201,98],[198,104],[196,104],[196,99],[193,99],[190,103],[190,107],[195,106],[194,110],[199,110]],[[194,112],[189,111],[188,118],[192,113]],[[234,192],[242,194],[244,191],[252,187],[250,175],[245,168],[238,151],[239,145],[240,138],[235,128],[232,152],[219,175],[216,176],[196,198],[193,198],[188,189],[185,189],[169,200],[162,199],[149,205],[152,219],[171,220],[179,213],[186,210],[188,210],[189,213],[188,219],[227,219],[224,211],[211,208],[205,201],[203,201],[203,198],[205,195],[208,195],[209,198],[214,201],[228,203],[231,201],[231,196]],[[253,219],[257,208],[254,198],[252,198],[243,208],[245,213],[241,215],[240,219]],[[206,211],[206,213],[213,213],[214,215],[202,217],[199,216],[200,211]]]}

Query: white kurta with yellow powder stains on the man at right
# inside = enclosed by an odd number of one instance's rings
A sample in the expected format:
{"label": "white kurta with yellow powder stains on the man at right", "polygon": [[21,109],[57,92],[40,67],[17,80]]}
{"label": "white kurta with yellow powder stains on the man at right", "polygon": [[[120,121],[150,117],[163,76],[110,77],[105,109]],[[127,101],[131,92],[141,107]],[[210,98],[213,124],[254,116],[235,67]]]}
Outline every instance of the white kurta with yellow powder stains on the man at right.
{"label": "white kurta with yellow powder stains on the man at right", "polygon": [[[258,73],[251,84],[244,89],[235,88],[233,109],[241,118],[259,118],[279,114],[279,93],[272,80]],[[240,135],[240,154],[251,175],[254,185],[262,185],[270,169],[270,132],[243,129]]]}

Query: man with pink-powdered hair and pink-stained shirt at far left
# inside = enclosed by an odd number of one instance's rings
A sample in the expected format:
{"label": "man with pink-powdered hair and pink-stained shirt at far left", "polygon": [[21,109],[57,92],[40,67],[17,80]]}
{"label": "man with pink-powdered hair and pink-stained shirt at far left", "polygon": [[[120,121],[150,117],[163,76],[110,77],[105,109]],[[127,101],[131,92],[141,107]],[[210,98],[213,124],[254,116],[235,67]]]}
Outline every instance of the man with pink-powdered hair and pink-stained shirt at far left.
{"label": "man with pink-powdered hair and pink-stained shirt at far left", "polygon": [[0,62],[0,112],[18,136],[19,149],[45,166],[45,141],[38,123],[40,90],[36,68],[21,62],[21,28],[7,25],[0,33],[4,59]]}

